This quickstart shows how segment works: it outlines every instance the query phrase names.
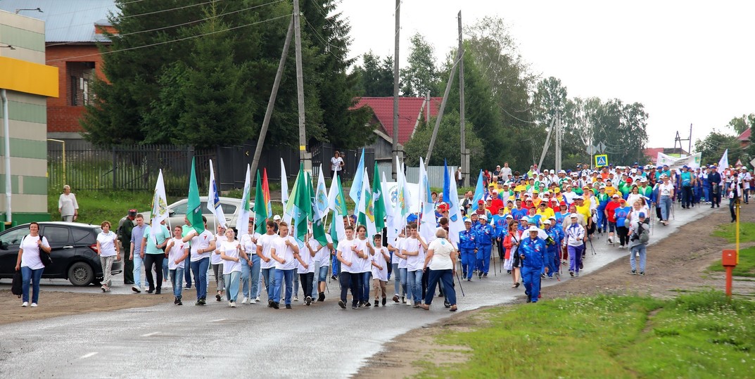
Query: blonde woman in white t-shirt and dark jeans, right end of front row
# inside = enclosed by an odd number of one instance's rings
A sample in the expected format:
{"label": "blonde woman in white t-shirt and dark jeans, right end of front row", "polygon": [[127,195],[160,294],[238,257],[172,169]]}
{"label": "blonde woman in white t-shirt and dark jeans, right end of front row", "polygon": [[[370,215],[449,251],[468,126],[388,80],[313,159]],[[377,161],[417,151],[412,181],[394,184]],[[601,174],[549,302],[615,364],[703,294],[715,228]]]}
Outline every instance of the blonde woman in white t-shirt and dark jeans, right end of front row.
{"label": "blonde woman in white t-shirt and dark jeans, right end of front row", "polygon": [[427,247],[427,257],[424,259],[424,268],[430,268],[430,279],[427,280],[427,291],[425,292],[425,302],[420,304],[424,310],[430,310],[430,304],[433,303],[435,295],[435,286],[440,280],[443,284],[443,293],[449,304],[451,312],[456,312],[456,291],[454,291],[454,274],[456,273],[454,262],[458,252],[448,240],[448,234],[445,230],[439,229],[435,236],[438,239],[430,242]]}

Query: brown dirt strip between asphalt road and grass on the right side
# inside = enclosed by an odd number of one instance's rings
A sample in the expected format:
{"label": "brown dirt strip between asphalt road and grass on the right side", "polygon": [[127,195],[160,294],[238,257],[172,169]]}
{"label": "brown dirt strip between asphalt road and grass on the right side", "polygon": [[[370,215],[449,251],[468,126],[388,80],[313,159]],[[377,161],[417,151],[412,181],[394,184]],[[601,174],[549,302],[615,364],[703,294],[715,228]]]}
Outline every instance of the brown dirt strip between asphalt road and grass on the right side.
{"label": "brown dirt strip between asphalt road and grass on the right side", "polygon": [[[742,220],[753,221],[753,212],[744,211]],[[679,291],[700,291],[710,288],[723,290],[723,275],[705,273],[713,261],[720,259],[721,250],[730,247],[725,239],[711,237],[717,225],[729,222],[729,209],[720,208],[692,223],[688,223],[667,239],[648,248],[647,275],[630,274],[628,258],[616,260],[605,267],[543,290],[543,300],[593,294],[639,294],[654,297],[673,297]],[[753,245],[753,244],[749,244]],[[743,245],[745,247],[747,245]],[[589,256],[588,256],[589,259]],[[735,293],[753,294],[753,282],[735,282]],[[519,297],[516,304],[524,303]],[[510,307],[504,305],[502,307]],[[421,371],[413,362],[432,362],[433,356],[451,352],[464,359],[467,347],[438,347],[436,334],[449,330],[475,328],[485,323],[481,310],[459,313],[429,328],[417,329],[396,337],[386,344],[387,349],[377,353],[356,377],[399,378],[409,377]],[[454,353],[456,352],[456,353]]]}

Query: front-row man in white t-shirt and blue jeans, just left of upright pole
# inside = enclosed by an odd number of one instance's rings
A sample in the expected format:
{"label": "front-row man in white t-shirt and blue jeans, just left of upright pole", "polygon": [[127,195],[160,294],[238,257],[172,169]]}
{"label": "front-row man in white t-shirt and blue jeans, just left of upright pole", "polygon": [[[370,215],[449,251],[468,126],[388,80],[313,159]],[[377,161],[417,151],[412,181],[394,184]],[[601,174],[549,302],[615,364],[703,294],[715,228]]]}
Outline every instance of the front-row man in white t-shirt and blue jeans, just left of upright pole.
{"label": "front-row man in white t-shirt and blue jeans, just left of upright pole", "polygon": [[281,287],[285,281],[285,308],[291,309],[291,295],[294,292],[294,271],[297,260],[303,265],[306,262],[299,257],[299,246],[294,237],[288,236],[288,223],[285,221],[278,224],[279,239],[273,242],[270,248],[270,257],[273,257],[276,265],[276,279],[273,282],[273,308],[279,309],[281,301]]}

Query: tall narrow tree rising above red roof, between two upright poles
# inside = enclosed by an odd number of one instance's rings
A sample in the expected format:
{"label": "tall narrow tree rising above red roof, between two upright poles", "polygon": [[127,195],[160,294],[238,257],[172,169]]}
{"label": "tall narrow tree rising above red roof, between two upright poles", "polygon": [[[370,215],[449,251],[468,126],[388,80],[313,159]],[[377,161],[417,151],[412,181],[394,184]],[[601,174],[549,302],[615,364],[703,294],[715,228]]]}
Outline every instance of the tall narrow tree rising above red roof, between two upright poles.
{"label": "tall narrow tree rising above red roof, between two upright poles", "polygon": [[401,70],[401,92],[404,96],[424,97],[428,92],[436,91],[436,85],[440,81],[435,63],[435,48],[420,33],[412,35],[409,42],[408,67]]}

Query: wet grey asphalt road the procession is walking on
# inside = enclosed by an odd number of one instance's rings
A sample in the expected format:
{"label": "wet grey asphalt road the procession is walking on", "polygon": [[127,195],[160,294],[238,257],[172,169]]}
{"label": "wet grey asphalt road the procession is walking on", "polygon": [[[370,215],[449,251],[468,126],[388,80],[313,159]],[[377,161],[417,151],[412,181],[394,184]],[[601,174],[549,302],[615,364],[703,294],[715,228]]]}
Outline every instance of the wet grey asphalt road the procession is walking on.
{"label": "wet grey asphalt road the procession is walking on", "polygon": [[[676,220],[669,226],[656,223],[651,242],[704,217],[710,208],[676,210]],[[593,246],[597,254],[591,255],[588,246],[582,276],[629,254],[609,248],[605,238]],[[648,275],[654,275],[652,246],[648,262]],[[566,275],[562,280],[579,278]],[[131,291],[130,286],[116,286],[117,282],[122,282],[120,276],[113,280],[114,292]],[[100,291],[60,280],[43,283],[43,291]],[[543,281],[544,286],[556,284],[555,279]],[[442,299],[433,302],[430,312],[393,302],[387,307],[341,310],[337,282],[328,285],[325,302],[310,307],[294,302],[292,310],[273,310],[263,303],[230,308],[214,298],[207,307],[195,307],[190,300],[194,292],[189,290],[184,291],[182,307],[171,301],[0,325],[0,377],[349,377],[393,337],[450,316]],[[510,288],[505,272],[462,285],[466,296],[457,288],[460,311],[504,304],[524,293],[521,287]],[[0,285],[9,287],[7,280]],[[393,282],[388,287],[392,292]],[[543,296],[547,298],[547,288]],[[267,298],[264,291],[262,297]]]}

